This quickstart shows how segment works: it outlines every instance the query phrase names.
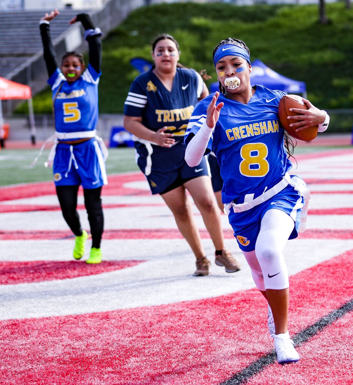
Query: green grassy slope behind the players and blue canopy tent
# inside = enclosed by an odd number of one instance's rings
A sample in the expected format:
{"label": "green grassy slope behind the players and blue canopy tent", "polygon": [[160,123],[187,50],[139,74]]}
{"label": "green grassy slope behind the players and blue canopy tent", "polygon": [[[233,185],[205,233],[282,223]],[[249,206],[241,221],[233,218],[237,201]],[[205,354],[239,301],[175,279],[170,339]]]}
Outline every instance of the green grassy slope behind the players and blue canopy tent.
{"label": "green grassy slope behind the players and blue canopy tent", "polygon": [[[161,32],[173,35],[180,62],[207,69],[216,81],[212,50],[226,37],[243,40],[251,59],[261,59],[282,75],[306,82],[308,98],[320,108],[353,106],[353,8],[326,5],[328,25],[318,23],[317,5],[257,5],[173,3],[132,12],[103,41],[99,110],[121,113],[132,80],[139,74],[129,60],[151,60],[151,40]],[[35,112],[51,112],[50,91],[35,96]],[[26,112],[25,107],[21,111]]]}

